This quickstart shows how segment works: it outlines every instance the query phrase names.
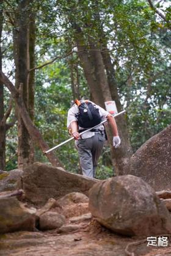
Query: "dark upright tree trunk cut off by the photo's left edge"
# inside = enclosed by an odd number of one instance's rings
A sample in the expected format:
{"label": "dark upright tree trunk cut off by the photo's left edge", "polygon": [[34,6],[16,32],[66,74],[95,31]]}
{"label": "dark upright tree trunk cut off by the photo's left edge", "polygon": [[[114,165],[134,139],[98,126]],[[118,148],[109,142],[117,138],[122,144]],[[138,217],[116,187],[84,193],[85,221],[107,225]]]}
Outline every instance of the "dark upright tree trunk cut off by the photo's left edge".
{"label": "dark upright tree trunk cut off by the photo's left edge", "polygon": [[[0,4],[2,6],[2,2]],[[2,49],[1,49],[1,36],[2,36],[2,23],[3,11],[0,10],[0,71],[2,71]],[[5,123],[2,122],[4,117],[4,86],[0,82],[0,169],[5,170]]]}

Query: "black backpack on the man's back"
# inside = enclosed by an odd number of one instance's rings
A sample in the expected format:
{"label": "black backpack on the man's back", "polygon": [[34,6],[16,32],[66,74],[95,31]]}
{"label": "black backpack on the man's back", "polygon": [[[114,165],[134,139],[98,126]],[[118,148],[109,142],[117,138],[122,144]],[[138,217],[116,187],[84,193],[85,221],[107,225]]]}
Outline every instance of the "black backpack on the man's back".
{"label": "black backpack on the man's back", "polygon": [[76,103],[79,110],[78,114],[76,114],[78,125],[82,128],[92,128],[95,125],[99,125],[101,123],[99,109],[89,101],[78,102],[79,104]]}

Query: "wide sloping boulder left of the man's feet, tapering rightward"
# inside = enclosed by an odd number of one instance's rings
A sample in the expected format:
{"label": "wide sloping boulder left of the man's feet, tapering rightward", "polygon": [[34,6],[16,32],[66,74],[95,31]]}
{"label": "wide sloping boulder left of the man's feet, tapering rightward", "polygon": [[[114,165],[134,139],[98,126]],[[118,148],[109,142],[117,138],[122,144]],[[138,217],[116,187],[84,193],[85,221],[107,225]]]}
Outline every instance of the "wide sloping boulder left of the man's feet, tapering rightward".
{"label": "wide sloping boulder left of the man's feet, tapering rightward", "polygon": [[89,189],[97,182],[98,180],[71,174],[60,168],[34,163],[24,169],[20,184],[26,200],[44,205],[49,198],[59,199],[70,192],[88,195]]}

